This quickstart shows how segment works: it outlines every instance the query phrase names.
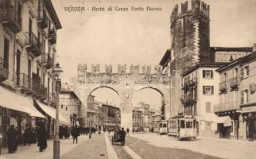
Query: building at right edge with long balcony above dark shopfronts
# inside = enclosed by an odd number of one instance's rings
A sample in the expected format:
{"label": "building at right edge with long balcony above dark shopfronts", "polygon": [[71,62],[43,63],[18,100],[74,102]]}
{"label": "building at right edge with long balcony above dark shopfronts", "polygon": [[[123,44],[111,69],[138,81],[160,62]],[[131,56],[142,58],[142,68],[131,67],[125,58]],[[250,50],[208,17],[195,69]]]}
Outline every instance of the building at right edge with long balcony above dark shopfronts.
{"label": "building at right edge with long balcony above dark shopfronts", "polygon": [[[255,47],[255,46],[254,46]],[[226,117],[218,130],[220,138],[254,140],[255,135],[255,67],[256,52],[240,57],[219,68],[219,104],[214,106],[218,116]]]}

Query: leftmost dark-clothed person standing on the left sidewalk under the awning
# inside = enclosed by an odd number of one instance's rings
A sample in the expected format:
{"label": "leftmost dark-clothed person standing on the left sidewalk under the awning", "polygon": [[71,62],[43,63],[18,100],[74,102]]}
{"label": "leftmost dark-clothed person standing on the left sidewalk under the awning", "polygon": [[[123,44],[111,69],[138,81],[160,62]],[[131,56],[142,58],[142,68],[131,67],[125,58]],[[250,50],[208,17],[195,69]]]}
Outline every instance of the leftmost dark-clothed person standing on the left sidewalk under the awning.
{"label": "leftmost dark-clothed person standing on the left sidewalk under the awning", "polygon": [[14,125],[11,125],[7,131],[7,145],[8,153],[15,153],[17,150],[17,130],[14,129]]}

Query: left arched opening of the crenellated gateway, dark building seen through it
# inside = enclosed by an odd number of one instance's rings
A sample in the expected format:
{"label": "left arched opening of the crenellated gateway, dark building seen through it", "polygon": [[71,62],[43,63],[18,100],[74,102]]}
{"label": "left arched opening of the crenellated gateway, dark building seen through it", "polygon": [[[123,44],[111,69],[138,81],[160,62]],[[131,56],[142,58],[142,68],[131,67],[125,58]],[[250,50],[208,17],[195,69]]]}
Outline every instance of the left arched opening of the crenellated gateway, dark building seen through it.
{"label": "left arched opening of the crenellated gateway, dark building seen through it", "polygon": [[115,130],[121,126],[120,96],[113,87],[95,87],[87,96],[86,126],[91,130]]}

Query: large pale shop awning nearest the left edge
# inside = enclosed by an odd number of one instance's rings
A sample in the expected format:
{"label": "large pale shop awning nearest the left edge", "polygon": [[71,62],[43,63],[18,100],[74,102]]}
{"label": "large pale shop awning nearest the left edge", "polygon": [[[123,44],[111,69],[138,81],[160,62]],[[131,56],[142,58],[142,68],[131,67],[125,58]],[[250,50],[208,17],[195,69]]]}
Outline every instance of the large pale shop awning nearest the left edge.
{"label": "large pale shop awning nearest the left edge", "polygon": [[29,114],[29,116],[45,118],[35,107],[33,107],[33,99],[26,98],[22,95],[7,90],[0,86],[0,106],[15,111],[21,111]]}

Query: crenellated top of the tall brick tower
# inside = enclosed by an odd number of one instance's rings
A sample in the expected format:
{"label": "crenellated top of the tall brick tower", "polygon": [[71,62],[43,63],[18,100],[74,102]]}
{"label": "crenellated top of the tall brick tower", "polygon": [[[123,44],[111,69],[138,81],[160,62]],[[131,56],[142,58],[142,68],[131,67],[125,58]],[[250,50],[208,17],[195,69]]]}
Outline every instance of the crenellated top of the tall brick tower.
{"label": "crenellated top of the tall brick tower", "polygon": [[171,23],[173,24],[173,21],[176,21],[177,19],[183,18],[186,15],[189,14],[202,14],[204,17],[210,16],[210,6],[205,2],[200,2],[200,0],[191,0],[189,7],[188,1],[176,4],[173,7],[173,12],[171,14]]}

